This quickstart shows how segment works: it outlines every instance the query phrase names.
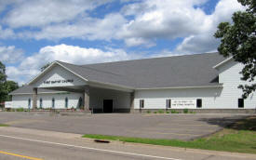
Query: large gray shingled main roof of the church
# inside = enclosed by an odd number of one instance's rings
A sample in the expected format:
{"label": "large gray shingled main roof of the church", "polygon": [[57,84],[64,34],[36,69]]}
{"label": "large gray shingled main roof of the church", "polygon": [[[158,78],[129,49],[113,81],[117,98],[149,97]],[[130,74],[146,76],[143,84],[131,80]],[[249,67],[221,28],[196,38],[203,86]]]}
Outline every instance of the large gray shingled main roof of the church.
{"label": "large gray shingled main roof of the church", "polygon": [[58,62],[91,82],[140,89],[216,86],[218,72],[212,67],[222,60],[219,53],[204,53],[87,65]]}

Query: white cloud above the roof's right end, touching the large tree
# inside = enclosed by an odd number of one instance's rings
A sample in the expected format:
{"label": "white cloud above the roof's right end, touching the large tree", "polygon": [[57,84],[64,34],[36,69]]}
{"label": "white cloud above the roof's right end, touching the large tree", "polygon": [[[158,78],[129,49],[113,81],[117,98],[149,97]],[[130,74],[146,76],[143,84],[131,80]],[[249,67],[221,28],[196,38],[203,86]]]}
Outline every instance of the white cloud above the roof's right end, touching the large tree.
{"label": "white cloud above the roof's right end, touching the large tree", "polygon": [[221,0],[208,17],[211,22],[207,30],[185,37],[174,52],[191,54],[217,51],[220,41],[213,34],[217,31],[218,24],[222,21],[231,21],[232,14],[243,9],[244,7],[235,0]]}

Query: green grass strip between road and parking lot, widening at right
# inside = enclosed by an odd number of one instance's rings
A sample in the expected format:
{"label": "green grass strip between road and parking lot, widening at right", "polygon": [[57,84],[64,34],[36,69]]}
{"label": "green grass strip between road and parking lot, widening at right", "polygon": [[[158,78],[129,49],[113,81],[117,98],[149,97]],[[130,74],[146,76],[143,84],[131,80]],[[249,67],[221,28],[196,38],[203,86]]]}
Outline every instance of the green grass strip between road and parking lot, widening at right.
{"label": "green grass strip between road and parking lot, widening at right", "polygon": [[119,140],[126,142],[165,145],[183,148],[226,151],[236,153],[256,153],[256,116],[240,120],[236,124],[226,127],[221,131],[206,138],[196,140],[161,140],[142,139],[120,136],[86,134],[83,138],[101,140]]}

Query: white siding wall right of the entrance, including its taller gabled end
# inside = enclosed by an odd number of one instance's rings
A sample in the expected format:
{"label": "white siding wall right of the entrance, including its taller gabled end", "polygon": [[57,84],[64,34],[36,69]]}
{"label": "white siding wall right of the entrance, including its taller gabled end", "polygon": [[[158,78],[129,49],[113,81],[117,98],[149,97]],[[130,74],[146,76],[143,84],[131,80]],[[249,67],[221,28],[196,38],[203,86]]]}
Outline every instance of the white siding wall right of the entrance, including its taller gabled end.
{"label": "white siding wall right of the entrance, including its taller gabled end", "polygon": [[[144,109],[166,109],[167,99],[202,99],[202,109],[238,109],[238,99],[241,98],[242,90],[237,87],[246,83],[240,80],[239,72],[242,67],[235,61],[224,64],[219,71],[219,82],[223,84],[222,87],[137,90],[134,108],[140,109],[140,100],[144,100]],[[245,109],[255,109],[256,97],[254,94],[244,100]]]}

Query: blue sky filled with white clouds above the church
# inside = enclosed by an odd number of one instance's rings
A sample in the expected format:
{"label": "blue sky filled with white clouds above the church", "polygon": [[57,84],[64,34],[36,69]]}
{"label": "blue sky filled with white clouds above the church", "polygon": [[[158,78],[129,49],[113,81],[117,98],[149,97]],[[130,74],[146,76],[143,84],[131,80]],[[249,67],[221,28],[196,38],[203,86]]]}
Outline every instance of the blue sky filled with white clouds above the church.
{"label": "blue sky filled with white clouds above the church", "polygon": [[0,0],[0,61],[28,83],[48,62],[74,64],[216,52],[236,0]]}

